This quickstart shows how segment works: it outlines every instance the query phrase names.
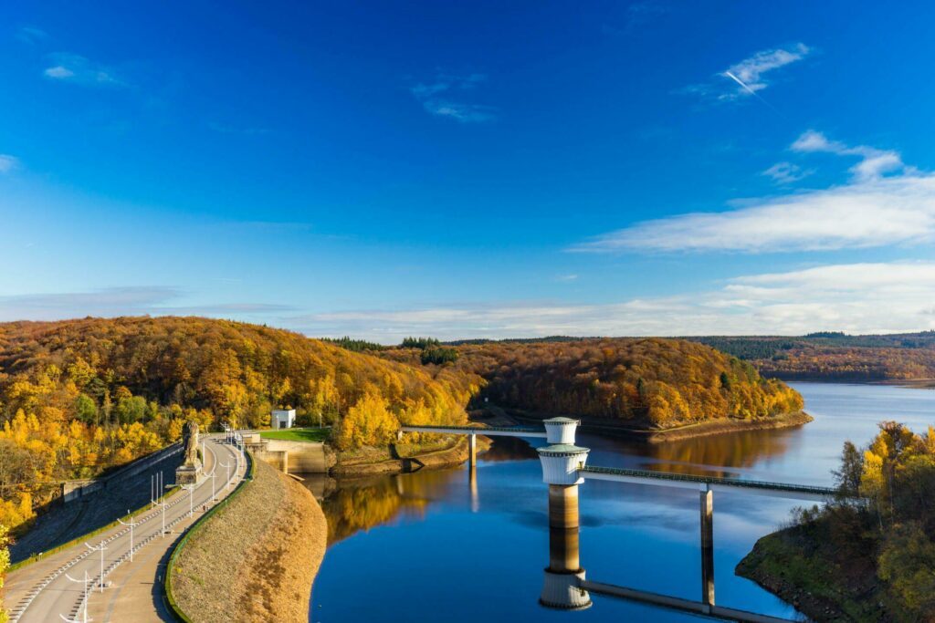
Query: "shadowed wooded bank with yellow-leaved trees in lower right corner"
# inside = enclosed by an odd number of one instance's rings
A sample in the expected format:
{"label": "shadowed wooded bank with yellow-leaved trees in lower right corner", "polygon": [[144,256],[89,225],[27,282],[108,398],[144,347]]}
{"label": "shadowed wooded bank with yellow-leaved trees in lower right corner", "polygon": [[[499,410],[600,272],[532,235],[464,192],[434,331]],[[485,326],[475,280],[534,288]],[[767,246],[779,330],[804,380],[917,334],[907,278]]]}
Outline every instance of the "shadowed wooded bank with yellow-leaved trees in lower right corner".
{"label": "shadowed wooded bank with yellow-leaved trees in lower right corner", "polygon": [[836,475],[841,497],[760,539],[738,573],[818,620],[935,621],[935,429],[883,422],[844,444]]}

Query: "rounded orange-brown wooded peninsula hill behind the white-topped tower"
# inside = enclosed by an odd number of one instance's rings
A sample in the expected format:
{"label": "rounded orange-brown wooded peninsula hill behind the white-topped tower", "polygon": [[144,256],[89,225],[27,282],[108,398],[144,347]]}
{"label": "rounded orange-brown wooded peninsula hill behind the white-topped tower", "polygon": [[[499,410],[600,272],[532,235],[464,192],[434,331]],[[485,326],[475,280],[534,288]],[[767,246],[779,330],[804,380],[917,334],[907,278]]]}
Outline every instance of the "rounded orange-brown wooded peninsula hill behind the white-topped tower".
{"label": "rounded orange-brown wooded peninsula hill behind the white-topped tower", "polygon": [[[453,370],[480,375],[496,404],[629,425],[669,427],[715,418],[769,418],[801,410],[782,382],[695,342],[658,338],[554,338],[462,342]],[[417,349],[384,351],[417,364]],[[434,366],[433,366],[434,367]]]}

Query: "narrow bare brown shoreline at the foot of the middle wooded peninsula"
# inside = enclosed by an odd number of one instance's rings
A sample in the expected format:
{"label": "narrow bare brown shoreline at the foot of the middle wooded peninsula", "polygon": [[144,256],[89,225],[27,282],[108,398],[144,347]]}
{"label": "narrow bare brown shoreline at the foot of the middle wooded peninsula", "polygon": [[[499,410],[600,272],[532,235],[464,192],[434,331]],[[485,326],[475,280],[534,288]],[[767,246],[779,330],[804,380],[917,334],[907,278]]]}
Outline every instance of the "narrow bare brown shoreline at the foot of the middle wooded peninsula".
{"label": "narrow bare brown shoreline at the foot of the middle wooded peninsula", "polygon": [[[507,413],[519,421],[540,422],[543,419],[552,418],[551,414],[530,414],[528,412],[509,409]],[[760,419],[739,419],[739,418],[716,418],[704,422],[695,422],[683,424],[668,429],[644,429],[629,428],[626,426],[609,424],[606,420],[600,418],[577,418],[581,420],[579,430],[582,432],[591,432],[604,434],[611,437],[622,437],[625,439],[638,439],[649,444],[661,444],[670,441],[682,441],[684,439],[693,439],[697,437],[706,437],[716,434],[725,434],[730,432],[745,431],[770,431],[775,429],[793,428],[808,424],[814,418],[804,411],[795,413],[786,413],[774,418]]]}

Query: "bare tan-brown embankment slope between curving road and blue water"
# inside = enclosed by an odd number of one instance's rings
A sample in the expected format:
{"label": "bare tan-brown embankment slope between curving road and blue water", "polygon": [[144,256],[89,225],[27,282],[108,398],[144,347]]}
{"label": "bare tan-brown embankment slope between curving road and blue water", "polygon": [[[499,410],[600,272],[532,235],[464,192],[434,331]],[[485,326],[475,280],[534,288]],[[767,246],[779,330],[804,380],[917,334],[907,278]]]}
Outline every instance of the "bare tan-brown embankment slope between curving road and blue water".
{"label": "bare tan-brown embankment slope between curving road and blue water", "polygon": [[262,461],[180,549],[172,594],[199,623],[307,621],[327,523],[307,488]]}

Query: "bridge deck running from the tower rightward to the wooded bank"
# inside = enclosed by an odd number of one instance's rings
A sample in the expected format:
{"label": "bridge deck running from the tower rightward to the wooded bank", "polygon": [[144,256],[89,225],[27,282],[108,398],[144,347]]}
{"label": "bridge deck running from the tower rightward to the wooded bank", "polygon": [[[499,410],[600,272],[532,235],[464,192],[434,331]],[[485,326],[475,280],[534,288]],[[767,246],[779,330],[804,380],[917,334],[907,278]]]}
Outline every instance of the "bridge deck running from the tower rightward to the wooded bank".
{"label": "bridge deck running from the tower rightward to the wooded bank", "polygon": [[825,500],[829,497],[834,497],[838,493],[837,489],[834,488],[812,487],[810,485],[791,485],[788,483],[741,480],[740,478],[723,478],[720,476],[669,474],[666,472],[628,470],[591,465],[583,467],[579,470],[579,473],[585,479],[590,478],[593,480],[615,480],[618,482],[631,482],[641,485],[662,485],[694,489],[704,487],[722,490],[745,489],[749,492],[763,495],[803,500]]}

